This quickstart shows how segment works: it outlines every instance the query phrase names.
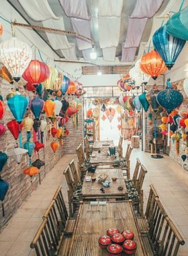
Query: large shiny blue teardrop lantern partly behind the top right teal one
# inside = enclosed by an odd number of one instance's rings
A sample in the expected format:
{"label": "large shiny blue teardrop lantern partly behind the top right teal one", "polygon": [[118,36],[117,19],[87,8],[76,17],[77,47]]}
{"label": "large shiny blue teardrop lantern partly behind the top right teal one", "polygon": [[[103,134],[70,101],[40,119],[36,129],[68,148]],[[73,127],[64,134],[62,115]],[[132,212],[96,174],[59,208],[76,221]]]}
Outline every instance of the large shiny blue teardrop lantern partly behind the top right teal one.
{"label": "large shiny blue teardrop lantern partly behind the top right teal one", "polygon": [[175,61],[181,53],[186,41],[169,35],[167,33],[167,26],[161,26],[156,30],[152,40],[154,48],[170,70],[173,65],[175,65]]}

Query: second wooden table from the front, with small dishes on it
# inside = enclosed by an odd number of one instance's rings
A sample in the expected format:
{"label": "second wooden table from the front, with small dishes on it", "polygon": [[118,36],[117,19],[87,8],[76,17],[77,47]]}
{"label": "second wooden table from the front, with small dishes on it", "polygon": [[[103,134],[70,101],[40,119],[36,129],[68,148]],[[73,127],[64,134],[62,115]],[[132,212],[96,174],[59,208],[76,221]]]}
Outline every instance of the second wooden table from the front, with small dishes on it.
{"label": "second wooden table from the front, with small dishes on it", "polygon": [[[109,181],[111,181],[109,187],[104,187],[103,184],[97,183],[99,175],[105,172],[109,175]],[[87,182],[85,181],[87,176],[96,177],[96,181]],[[112,181],[111,177],[117,177],[116,181]],[[83,182],[82,196],[83,200],[97,200],[105,201],[107,199],[114,200],[125,200],[128,199],[128,191],[126,189],[126,184],[124,181],[124,175],[121,168],[111,168],[111,169],[99,169],[97,168],[94,173],[87,172]],[[118,187],[122,186],[122,190],[118,190]],[[100,189],[104,188],[105,193]]]}

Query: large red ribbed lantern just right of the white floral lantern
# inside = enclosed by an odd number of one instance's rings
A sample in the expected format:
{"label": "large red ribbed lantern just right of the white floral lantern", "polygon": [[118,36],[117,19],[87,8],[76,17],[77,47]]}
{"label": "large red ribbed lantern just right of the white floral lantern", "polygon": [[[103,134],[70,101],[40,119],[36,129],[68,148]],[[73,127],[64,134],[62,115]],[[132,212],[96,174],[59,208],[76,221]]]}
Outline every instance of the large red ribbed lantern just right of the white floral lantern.
{"label": "large red ribbed lantern just right of the white floral lantern", "polygon": [[35,87],[46,81],[50,76],[50,69],[46,63],[34,59],[30,62],[22,77]]}

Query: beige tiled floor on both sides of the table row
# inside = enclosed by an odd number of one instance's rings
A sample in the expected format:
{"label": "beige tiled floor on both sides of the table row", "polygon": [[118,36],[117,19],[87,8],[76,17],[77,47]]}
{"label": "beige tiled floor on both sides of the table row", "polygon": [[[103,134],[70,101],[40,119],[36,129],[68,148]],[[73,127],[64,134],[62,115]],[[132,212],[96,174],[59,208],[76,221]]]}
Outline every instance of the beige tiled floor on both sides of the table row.
{"label": "beige tiled floor on both sides of the table row", "polygon": [[[58,185],[62,185],[65,201],[66,181],[62,171],[75,155],[65,155],[42,181],[42,185],[23,203],[9,224],[0,234],[1,256],[34,256],[30,243],[42,221],[42,214],[50,203]],[[188,255],[188,172],[168,156],[156,160],[150,154],[134,149],[131,156],[131,170],[134,171],[136,158],[140,158],[148,173],[144,180],[144,201],[148,198],[149,185],[152,183],[164,209],[173,220],[185,239],[185,245],[179,249],[179,256]]]}

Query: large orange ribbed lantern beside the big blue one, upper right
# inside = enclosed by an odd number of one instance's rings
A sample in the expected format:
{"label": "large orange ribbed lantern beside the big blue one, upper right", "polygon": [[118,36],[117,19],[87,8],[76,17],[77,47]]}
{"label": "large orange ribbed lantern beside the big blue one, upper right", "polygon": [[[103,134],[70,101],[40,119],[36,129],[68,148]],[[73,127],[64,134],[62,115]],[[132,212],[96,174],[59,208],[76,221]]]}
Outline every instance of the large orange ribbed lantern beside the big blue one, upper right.
{"label": "large orange ribbed lantern beside the big blue one, upper right", "polygon": [[151,51],[142,56],[140,68],[154,80],[156,80],[158,75],[167,71],[164,61],[162,61],[160,55],[156,51]]}

